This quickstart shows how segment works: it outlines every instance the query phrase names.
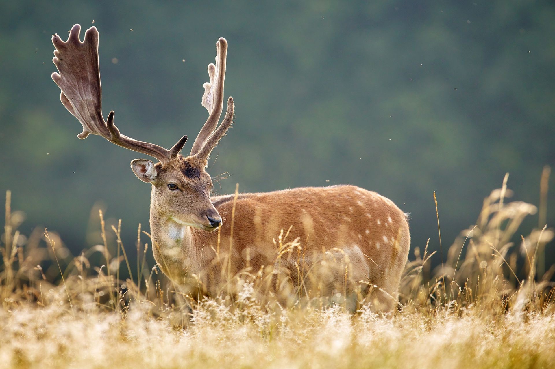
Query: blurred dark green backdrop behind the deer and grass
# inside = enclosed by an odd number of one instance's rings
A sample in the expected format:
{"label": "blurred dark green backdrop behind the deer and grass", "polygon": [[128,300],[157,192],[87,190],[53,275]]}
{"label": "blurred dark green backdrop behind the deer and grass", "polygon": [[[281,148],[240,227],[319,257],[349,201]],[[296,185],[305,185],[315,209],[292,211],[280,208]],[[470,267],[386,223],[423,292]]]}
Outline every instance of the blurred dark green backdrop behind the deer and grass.
{"label": "blurred dark green backdrop behind the deer and grass", "polygon": [[0,14],[0,190],[24,231],[57,230],[75,253],[95,242],[95,204],[132,244],[150,186],[129,167],[144,156],[78,140],[60,104],[51,35],[74,23],[100,32],[104,116],[165,147],[203,125],[206,65],[228,39],[236,123],[209,163],[231,175],[221,194],[356,184],[412,213],[413,247],[437,249],[434,191],[445,247],[506,172],[514,198],[537,205],[554,163],[551,1],[2,1]]}

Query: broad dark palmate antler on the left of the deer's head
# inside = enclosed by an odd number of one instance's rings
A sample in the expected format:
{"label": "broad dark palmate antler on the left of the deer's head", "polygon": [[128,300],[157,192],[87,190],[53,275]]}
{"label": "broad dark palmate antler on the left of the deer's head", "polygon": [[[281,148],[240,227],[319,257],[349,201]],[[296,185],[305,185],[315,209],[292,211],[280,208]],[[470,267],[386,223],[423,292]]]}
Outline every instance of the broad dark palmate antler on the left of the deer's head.
{"label": "broad dark palmate antler on the left of the deer's head", "polygon": [[59,72],[52,73],[52,79],[62,90],[62,104],[83,125],[83,132],[77,137],[85,139],[89,134],[99,135],[116,145],[145,153],[159,161],[175,157],[183,148],[186,136],[171,150],[166,150],[154,143],[134,140],[120,134],[118,127],[114,125],[113,111],[108,114],[108,120],[104,121],[98,63],[99,33],[96,27],[90,27],[81,42],[80,30],[81,26],[75,24],[65,42],[57,34],[52,36],[52,43],[56,48],[52,61]]}

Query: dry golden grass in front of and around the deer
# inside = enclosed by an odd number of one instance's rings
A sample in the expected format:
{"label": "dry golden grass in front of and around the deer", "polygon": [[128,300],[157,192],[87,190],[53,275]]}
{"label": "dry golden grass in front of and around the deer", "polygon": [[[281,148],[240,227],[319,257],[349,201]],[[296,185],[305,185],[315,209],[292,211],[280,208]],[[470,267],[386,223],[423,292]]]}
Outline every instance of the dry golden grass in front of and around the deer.
{"label": "dry golden grass in front of and around the deer", "polygon": [[[476,225],[444,247],[442,266],[431,270],[427,245],[413,245],[398,309],[387,316],[374,314],[367,303],[350,314],[342,296],[330,303],[286,289],[284,299],[267,288],[268,271],[230,276],[220,298],[197,301],[147,266],[150,250],[140,229],[137,260],[128,258],[119,224],[109,232],[103,219],[101,244],[73,257],[52,232],[19,234],[23,216],[9,208],[8,193],[0,362],[3,367],[552,367],[555,268],[539,275],[537,265],[553,231],[533,229],[521,244],[511,243],[521,234],[524,217],[537,209],[508,202],[506,183],[507,178],[485,199]],[[298,249],[280,242],[276,247]],[[130,278],[123,280],[124,274]]]}

